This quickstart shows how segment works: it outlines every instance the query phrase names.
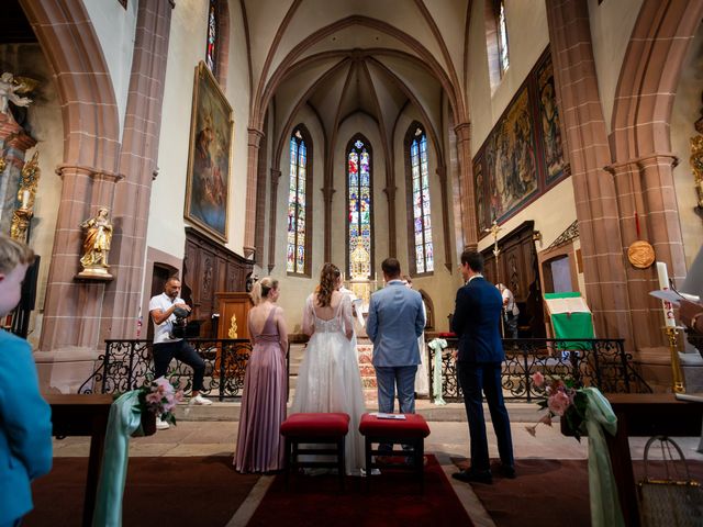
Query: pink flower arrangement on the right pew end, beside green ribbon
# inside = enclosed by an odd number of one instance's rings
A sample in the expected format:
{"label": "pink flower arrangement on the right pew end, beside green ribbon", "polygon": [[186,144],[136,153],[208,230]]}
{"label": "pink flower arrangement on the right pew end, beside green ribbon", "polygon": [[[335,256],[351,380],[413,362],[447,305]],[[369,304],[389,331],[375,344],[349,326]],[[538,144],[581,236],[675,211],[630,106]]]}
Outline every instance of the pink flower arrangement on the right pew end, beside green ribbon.
{"label": "pink flower arrangement on the right pew end, beside green ribbon", "polygon": [[535,425],[526,426],[525,429],[534,437],[539,423],[551,426],[551,419],[559,416],[568,433],[580,441],[588,400],[577,382],[571,378],[547,379],[540,372],[532,375],[532,382],[537,388],[544,386],[546,399],[538,404],[542,408],[547,408],[547,413]]}

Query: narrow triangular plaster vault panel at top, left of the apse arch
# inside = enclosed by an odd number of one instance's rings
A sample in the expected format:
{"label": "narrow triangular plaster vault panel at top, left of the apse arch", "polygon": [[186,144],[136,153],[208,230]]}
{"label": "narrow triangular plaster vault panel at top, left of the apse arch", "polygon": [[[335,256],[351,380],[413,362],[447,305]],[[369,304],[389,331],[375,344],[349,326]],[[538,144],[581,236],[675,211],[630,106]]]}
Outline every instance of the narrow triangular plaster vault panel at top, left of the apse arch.
{"label": "narrow triangular plaster vault panel at top, left of the apse arch", "polygon": [[252,55],[252,75],[257,86],[268,51],[292,0],[243,0],[249,32],[249,53]]}

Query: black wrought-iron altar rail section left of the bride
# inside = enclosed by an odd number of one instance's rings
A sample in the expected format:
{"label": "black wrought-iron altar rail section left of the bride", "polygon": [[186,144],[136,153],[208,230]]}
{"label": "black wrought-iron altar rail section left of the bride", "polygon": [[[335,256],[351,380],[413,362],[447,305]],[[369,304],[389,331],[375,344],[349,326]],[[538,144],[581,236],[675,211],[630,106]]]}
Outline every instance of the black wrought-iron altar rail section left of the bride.
{"label": "black wrought-iron altar rail section left of the bride", "polygon": [[[249,340],[189,338],[188,343],[205,361],[201,393],[219,401],[241,397],[244,372],[252,354]],[[124,393],[140,388],[147,377],[154,375],[153,346],[150,340],[105,340],[104,355],[98,357],[96,370],[78,393]],[[290,346],[286,351],[286,371],[290,371]],[[190,367],[174,360],[167,377],[185,393],[191,392],[193,373]]]}

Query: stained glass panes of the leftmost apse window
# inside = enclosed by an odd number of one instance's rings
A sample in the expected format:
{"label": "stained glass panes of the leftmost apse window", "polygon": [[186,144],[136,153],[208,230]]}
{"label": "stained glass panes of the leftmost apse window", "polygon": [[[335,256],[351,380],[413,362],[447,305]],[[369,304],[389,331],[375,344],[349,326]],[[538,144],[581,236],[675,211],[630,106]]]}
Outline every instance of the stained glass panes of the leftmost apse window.
{"label": "stained glass panes of the leftmost apse window", "polygon": [[290,178],[288,186],[288,272],[305,272],[305,221],[308,188],[308,145],[300,128],[290,137]]}

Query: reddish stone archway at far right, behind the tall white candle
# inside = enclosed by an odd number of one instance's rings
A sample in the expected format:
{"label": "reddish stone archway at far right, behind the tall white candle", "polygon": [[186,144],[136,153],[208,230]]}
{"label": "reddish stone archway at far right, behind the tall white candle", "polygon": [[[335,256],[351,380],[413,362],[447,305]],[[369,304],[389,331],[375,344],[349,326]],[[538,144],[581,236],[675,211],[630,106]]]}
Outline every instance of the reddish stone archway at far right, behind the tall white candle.
{"label": "reddish stone archway at far right, behind the tall white candle", "polygon": [[[671,109],[687,51],[703,3],[645,0],[620,75],[610,144],[622,246],[647,239],[669,276],[685,276],[683,239],[674,193]],[[638,232],[639,231],[639,232]],[[656,269],[625,266],[638,351],[665,344],[661,309],[647,295],[658,288]]]}

